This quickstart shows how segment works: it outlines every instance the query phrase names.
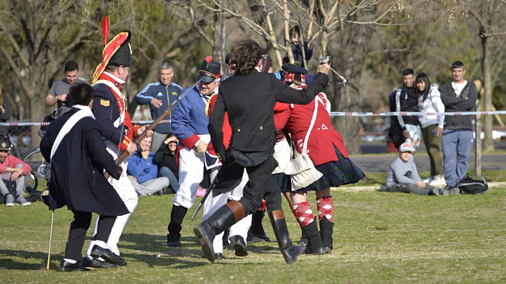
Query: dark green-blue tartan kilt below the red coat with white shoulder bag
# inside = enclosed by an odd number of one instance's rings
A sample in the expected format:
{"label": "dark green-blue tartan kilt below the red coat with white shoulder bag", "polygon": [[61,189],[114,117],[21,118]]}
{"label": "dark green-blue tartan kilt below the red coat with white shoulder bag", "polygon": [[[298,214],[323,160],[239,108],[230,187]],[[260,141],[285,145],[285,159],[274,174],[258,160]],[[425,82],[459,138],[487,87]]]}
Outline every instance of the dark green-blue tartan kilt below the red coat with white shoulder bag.
{"label": "dark green-blue tartan kilt below the red coat with white shoulder bag", "polygon": [[340,185],[356,183],[365,177],[365,174],[350,160],[343,157],[343,154],[334,146],[337,161],[330,161],[325,164],[315,166],[323,174],[317,181],[302,188],[296,193],[305,193],[308,191],[322,191],[327,187],[337,187]]}

